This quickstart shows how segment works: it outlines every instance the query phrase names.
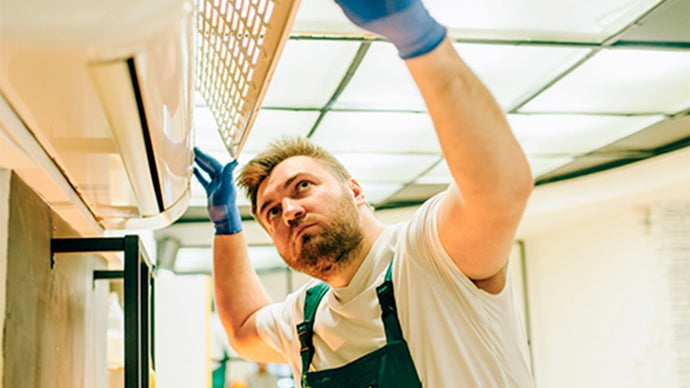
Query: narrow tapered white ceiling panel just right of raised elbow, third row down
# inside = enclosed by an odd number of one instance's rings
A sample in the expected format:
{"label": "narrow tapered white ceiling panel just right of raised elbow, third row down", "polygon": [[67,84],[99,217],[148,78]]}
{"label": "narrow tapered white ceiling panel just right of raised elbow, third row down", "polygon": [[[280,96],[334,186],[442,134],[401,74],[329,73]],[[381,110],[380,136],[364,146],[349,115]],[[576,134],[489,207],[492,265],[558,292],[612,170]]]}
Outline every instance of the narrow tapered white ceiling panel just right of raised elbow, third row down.
{"label": "narrow tapered white ceiling panel just right of raised elbow, third row down", "polygon": [[527,155],[578,155],[613,143],[663,116],[508,115]]}

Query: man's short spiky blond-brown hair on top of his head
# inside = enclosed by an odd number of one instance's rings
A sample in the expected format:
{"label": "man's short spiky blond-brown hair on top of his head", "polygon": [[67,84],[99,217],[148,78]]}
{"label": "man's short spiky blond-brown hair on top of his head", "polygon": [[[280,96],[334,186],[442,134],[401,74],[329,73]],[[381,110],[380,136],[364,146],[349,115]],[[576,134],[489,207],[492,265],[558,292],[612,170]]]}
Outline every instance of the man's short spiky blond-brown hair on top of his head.
{"label": "man's short spiky blond-brown hair on top of his head", "polygon": [[338,180],[346,182],[350,173],[338,159],[325,148],[299,136],[283,136],[273,141],[266,150],[256,155],[240,172],[237,184],[247,193],[252,204],[252,214],[256,216],[256,195],[259,185],[282,161],[293,156],[308,156],[328,168]]}

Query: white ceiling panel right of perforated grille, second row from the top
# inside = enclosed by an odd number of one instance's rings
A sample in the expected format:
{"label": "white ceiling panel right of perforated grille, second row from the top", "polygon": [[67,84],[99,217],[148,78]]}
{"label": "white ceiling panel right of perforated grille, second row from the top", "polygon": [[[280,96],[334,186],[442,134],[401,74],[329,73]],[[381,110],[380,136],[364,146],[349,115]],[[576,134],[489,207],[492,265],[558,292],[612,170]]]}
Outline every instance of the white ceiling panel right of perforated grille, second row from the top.
{"label": "white ceiling panel right of perforated grille, second row from the top", "polygon": [[289,40],[262,106],[323,107],[358,48],[358,42]]}

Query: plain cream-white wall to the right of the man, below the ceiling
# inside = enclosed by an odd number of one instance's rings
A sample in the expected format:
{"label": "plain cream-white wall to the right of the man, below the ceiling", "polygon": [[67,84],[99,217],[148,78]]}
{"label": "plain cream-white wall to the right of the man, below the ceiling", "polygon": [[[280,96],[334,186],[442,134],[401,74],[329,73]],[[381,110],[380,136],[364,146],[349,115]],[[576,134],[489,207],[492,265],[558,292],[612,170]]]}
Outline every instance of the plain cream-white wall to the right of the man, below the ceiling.
{"label": "plain cream-white wall to the right of the man, below the ceiling", "polygon": [[688,387],[687,161],[685,151],[536,193],[520,237],[538,387]]}

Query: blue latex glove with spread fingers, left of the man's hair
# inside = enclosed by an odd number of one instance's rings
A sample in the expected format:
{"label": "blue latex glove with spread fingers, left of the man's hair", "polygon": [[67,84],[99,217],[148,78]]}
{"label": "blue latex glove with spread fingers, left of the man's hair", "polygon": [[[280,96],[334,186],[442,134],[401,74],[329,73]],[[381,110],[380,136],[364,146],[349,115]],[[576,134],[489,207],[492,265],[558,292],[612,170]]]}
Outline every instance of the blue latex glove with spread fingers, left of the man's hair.
{"label": "blue latex glove with spread fingers, left of the man's hair", "polygon": [[235,234],[242,231],[242,217],[237,208],[237,190],[232,181],[232,172],[237,161],[221,165],[211,156],[194,147],[194,162],[206,171],[210,181],[194,167],[194,176],[206,190],[208,214],[216,227],[216,234]]}

